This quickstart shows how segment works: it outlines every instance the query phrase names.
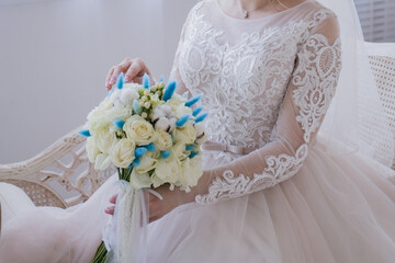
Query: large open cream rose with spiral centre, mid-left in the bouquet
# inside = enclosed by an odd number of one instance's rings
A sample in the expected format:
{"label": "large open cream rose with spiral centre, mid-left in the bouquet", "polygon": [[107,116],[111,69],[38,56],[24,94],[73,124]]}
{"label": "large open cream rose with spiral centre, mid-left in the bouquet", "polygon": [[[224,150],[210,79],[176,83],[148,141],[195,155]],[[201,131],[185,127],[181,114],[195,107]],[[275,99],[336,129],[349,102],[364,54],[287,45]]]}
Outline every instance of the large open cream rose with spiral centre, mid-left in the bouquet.
{"label": "large open cream rose with spiral centre, mid-left in the bouquet", "polygon": [[129,117],[123,129],[127,138],[135,140],[137,145],[148,145],[155,139],[153,125],[138,115]]}

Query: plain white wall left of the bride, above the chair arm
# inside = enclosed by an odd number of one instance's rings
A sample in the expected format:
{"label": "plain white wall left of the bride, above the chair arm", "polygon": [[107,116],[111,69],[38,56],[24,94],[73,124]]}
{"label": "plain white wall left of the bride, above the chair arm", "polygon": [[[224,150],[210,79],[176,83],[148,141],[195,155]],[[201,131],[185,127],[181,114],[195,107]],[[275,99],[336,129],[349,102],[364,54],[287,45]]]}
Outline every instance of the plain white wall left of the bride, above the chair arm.
{"label": "plain white wall left of the bride, above the chair arm", "polygon": [[125,56],[168,75],[195,2],[0,0],[0,163],[29,159],[83,124]]}

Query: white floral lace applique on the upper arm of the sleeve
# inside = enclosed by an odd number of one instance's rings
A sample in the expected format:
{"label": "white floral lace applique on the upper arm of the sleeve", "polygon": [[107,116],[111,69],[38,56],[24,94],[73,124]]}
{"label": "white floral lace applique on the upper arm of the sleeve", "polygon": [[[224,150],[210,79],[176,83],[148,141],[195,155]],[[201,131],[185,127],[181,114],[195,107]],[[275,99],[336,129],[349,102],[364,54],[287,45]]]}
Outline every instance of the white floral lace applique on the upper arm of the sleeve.
{"label": "white floral lace applique on the upper arm of the sleeve", "polygon": [[339,38],[330,46],[324,35],[315,34],[300,53],[300,66],[292,79],[298,89],[293,91],[293,99],[300,107],[296,121],[301,123],[306,142],[319,127],[335,95],[341,64],[340,48]]}

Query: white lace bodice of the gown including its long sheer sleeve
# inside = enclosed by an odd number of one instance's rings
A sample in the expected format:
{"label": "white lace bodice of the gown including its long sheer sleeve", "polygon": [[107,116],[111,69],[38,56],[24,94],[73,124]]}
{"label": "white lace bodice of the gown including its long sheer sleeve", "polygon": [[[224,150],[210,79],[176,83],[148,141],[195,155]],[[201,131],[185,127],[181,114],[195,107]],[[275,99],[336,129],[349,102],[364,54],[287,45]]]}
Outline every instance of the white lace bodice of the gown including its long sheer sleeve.
{"label": "white lace bodice of the gown including its long sheer sleeve", "polygon": [[198,3],[173,75],[193,95],[204,94],[211,140],[259,149],[211,171],[210,193],[198,201],[248,194],[295,174],[339,71],[336,16],[315,1],[258,20],[230,18],[217,0]]}

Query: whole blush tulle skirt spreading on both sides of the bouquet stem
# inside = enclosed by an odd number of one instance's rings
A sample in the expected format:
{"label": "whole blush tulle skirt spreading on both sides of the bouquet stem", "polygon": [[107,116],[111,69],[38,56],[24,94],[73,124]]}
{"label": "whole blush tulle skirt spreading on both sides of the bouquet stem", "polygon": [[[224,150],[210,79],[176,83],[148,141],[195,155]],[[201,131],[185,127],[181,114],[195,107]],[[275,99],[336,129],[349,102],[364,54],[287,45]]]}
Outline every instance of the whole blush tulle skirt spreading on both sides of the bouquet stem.
{"label": "whole blush tulle skirt spreading on both sides of the bouquet stem", "polygon": [[[334,155],[329,145],[320,139],[300,172],[273,187],[182,205],[150,224],[148,262],[395,262],[390,171],[358,153]],[[217,153],[204,152],[205,168],[227,161]],[[115,180],[71,209],[14,207],[3,222],[0,262],[90,262],[106,220],[101,203]],[[8,187],[0,184],[2,204]]]}

